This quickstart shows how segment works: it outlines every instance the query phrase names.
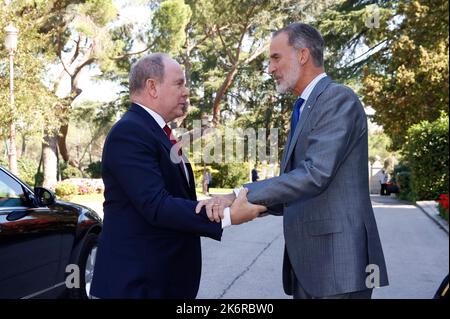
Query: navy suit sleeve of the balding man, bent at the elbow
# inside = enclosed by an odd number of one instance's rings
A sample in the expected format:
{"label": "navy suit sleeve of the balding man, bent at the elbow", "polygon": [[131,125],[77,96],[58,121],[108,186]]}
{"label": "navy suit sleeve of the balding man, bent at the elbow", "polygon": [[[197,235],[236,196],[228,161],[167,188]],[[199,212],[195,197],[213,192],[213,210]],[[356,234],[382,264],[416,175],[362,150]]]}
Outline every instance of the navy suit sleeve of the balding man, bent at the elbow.
{"label": "navy suit sleeve of the balding man, bent at the elbow", "polygon": [[204,211],[195,213],[196,201],[173,197],[165,188],[154,137],[146,140],[142,129],[120,123],[105,145],[105,169],[122,188],[124,196],[154,226],[220,240],[221,223],[211,222]]}

